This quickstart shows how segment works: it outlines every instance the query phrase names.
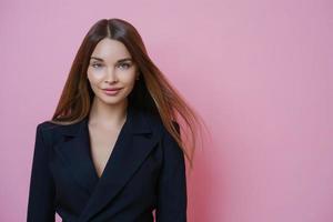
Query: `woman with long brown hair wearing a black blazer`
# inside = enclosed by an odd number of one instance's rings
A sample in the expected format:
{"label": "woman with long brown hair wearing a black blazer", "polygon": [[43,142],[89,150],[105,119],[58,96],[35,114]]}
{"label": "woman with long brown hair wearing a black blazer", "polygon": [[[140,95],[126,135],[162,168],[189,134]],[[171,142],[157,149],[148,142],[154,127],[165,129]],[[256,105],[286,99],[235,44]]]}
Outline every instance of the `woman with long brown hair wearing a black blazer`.
{"label": "woman with long brown hair wearing a black blazer", "polygon": [[[176,113],[192,135],[186,149]],[[186,221],[184,157],[192,168],[198,120],[132,24],[98,21],[52,120],[37,127],[28,221],[57,212],[65,222],[150,222],[154,210],[159,222]]]}

